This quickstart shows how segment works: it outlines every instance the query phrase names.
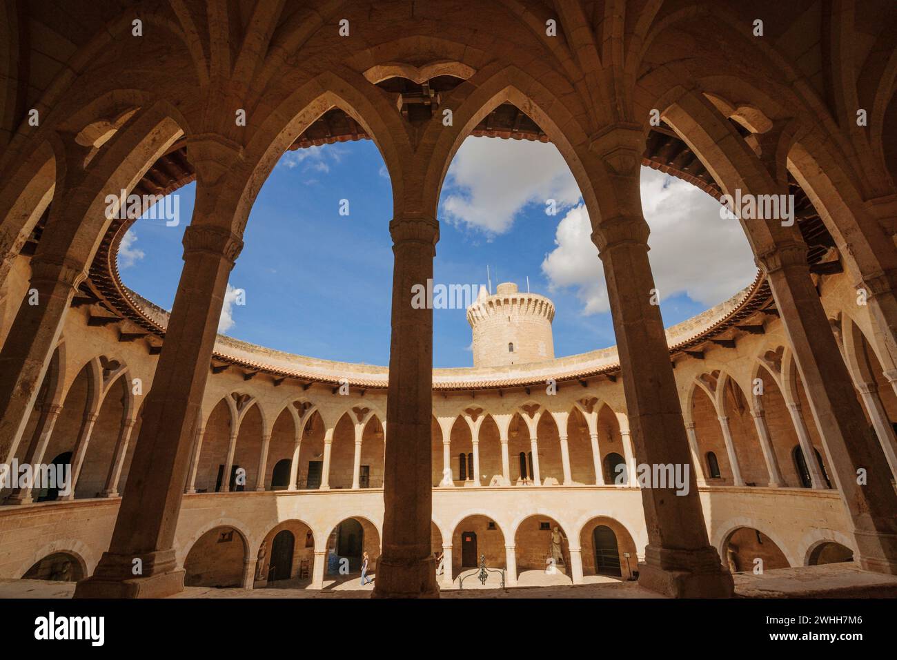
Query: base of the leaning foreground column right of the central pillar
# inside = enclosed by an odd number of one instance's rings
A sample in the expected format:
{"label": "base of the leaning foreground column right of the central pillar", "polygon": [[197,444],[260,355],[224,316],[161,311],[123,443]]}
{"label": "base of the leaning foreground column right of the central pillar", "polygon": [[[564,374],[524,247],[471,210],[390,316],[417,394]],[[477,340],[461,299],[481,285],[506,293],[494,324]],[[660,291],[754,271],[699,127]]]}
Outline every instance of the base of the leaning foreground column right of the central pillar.
{"label": "base of the leaning foreground column right of the central pillar", "polygon": [[732,575],[717,550],[670,550],[648,546],[639,564],[639,585],[670,598],[731,598]]}

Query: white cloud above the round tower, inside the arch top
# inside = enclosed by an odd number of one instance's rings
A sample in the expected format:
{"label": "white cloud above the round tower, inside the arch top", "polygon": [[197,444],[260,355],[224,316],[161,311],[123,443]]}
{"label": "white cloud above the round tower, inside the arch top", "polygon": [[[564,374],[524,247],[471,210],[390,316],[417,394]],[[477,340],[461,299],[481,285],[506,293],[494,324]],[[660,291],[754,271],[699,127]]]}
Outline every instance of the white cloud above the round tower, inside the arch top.
{"label": "white cloud above the round tower, inside the arch top", "polygon": [[507,232],[529,203],[558,209],[579,201],[579,187],[554,145],[468,137],[448,168],[442,213],[449,223],[487,234]]}

